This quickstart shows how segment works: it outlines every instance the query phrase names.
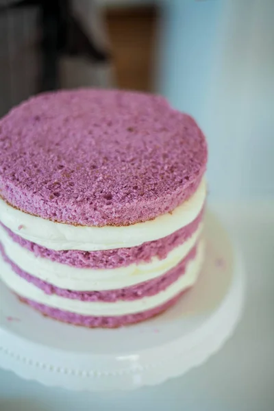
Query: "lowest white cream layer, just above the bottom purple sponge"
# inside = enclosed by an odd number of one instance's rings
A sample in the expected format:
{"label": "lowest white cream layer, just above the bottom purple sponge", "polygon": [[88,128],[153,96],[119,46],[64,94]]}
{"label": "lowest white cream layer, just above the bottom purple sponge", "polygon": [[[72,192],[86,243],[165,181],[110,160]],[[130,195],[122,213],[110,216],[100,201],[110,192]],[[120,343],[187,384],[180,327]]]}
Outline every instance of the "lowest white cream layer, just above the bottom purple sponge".
{"label": "lowest white cream layer, just above the bottom purple sponge", "polygon": [[144,297],[134,301],[115,301],[114,303],[101,301],[79,301],[68,299],[58,295],[47,295],[45,292],[30,284],[25,279],[19,277],[12,271],[10,264],[2,263],[0,277],[3,282],[16,294],[26,299],[45,304],[45,306],[59,308],[60,310],[74,312],[86,316],[121,316],[125,314],[136,314],[158,307],[166,301],[175,297],[179,292],[186,290],[195,284],[201,266],[203,264],[203,242],[199,243],[197,254],[190,260],[186,267],[186,272],[181,275],[176,282],[165,290],[151,297]]}

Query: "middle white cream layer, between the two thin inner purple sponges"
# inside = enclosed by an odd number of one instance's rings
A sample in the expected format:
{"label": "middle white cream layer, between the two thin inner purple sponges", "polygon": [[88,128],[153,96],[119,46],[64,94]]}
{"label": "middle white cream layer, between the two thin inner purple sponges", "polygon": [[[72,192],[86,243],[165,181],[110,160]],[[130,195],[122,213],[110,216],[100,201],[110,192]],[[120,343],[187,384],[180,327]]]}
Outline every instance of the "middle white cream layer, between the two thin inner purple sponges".
{"label": "middle white cream layer, between the two thin inner purple sponges", "polygon": [[0,241],[6,256],[21,270],[66,290],[116,290],[159,277],[176,266],[194,247],[201,234],[202,224],[182,245],[173,249],[166,258],[152,258],[151,262],[130,264],[117,269],[79,269],[48,258],[36,257],[21,247],[0,226]]}

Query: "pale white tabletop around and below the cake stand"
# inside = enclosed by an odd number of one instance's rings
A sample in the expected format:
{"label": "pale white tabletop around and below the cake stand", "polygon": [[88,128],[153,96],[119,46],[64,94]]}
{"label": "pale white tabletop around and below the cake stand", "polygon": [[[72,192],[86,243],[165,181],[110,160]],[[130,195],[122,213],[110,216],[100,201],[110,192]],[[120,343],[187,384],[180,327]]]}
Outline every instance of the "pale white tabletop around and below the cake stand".
{"label": "pale white tabletop around and below the cake stand", "polygon": [[206,364],[129,393],[72,393],[0,370],[1,411],[274,409],[274,201],[214,206],[245,259],[247,300],[234,337]]}

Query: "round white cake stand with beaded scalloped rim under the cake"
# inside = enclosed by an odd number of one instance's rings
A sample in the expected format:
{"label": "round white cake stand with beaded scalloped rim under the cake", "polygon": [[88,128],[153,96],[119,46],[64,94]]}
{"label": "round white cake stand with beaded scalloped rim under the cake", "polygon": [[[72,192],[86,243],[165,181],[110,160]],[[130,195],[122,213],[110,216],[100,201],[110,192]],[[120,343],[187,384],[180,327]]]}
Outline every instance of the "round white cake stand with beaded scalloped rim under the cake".
{"label": "round white cake stand with beaded scalloped rim under the cake", "polygon": [[204,235],[206,262],[197,285],[171,310],[138,325],[66,325],[32,310],[1,284],[0,366],[48,386],[128,390],[202,364],[232,335],[244,290],[242,264],[212,214]]}

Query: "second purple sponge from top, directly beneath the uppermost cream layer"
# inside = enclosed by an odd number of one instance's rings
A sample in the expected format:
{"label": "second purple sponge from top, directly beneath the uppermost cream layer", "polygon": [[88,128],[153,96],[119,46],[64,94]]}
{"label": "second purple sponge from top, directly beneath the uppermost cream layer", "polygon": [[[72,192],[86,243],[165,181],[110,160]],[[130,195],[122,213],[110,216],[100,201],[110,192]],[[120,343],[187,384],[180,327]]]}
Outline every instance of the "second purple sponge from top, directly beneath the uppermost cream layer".
{"label": "second purple sponge from top, directly beneath the uppermost cream layer", "polygon": [[5,228],[12,240],[21,245],[21,247],[25,247],[29,251],[35,253],[37,257],[49,258],[54,262],[68,264],[69,266],[75,266],[80,269],[114,269],[128,266],[129,264],[149,262],[151,258],[155,256],[160,258],[160,260],[166,258],[171,250],[182,245],[184,241],[192,236],[197,230],[199,223],[201,223],[202,218],[203,210],[197,218],[186,225],[186,227],[177,230],[177,232],[170,236],[160,238],[160,240],[145,242],[137,247],[91,252],[49,250],[45,247],[40,247],[40,245],[37,245],[34,242],[30,242],[17,236],[3,225],[2,227]]}

